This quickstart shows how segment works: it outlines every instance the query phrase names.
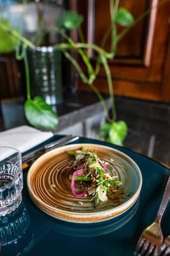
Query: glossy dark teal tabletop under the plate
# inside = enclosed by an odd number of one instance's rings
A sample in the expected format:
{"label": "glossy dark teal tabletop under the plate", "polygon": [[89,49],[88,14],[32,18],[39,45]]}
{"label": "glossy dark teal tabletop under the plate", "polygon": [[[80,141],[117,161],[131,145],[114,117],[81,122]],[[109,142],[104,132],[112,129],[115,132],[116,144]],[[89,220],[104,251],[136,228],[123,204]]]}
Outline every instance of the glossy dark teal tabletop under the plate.
{"label": "glossy dark teal tabletop under the plate", "polygon": [[[54,136],[48,142],[60,137]],[[80,138],[76,143],[107,145],[131,157],[142,172],[143,184],[140,197],[127,212],[111,220],[92,224],[69,223],[55,219],[36,207],[28,193],[26,184],[28,169],[25,169],[21,213],[14,214],[7,224],[5,219],[0,222],[1,232],[4,232],[3,227],[6,225],[7,229],[8,225],[15,230],[17,236],[12,243],[1,246],[2,256],[133,255],[141,232],[156,217],[170,174],[169,169],[134,151],[106,142]],[[42,145],[45,143],[39,146]],[[169,216],[170,207],[167,207],[161,223],[164,237],[170,235]],[[14,235],[12,232],[11,237]]]}

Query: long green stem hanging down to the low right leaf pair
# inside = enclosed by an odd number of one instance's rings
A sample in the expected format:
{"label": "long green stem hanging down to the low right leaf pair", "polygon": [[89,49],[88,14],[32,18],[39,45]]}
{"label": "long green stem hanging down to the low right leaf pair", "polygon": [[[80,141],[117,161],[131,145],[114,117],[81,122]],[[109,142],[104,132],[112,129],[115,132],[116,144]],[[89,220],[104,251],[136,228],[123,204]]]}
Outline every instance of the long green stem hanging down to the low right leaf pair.
{"label": "long green stem hanging down to the low right leaf pair", "polygon": [[112,77],[109,65],[107,63],[107,60],[104,56],[101,55],[101,59],[103,61],[103,65],[106,71],[107,81],[108,81],[108,87],[109,87],[109,93],[110,93],[110,100],[111,100],[111,107],[112,107],[112,115],[113,115],[113,122],[116,120],[116,109],[115,109],[115,101],[114,101],[114,94],[113,94],[113,84],[112,84]]}

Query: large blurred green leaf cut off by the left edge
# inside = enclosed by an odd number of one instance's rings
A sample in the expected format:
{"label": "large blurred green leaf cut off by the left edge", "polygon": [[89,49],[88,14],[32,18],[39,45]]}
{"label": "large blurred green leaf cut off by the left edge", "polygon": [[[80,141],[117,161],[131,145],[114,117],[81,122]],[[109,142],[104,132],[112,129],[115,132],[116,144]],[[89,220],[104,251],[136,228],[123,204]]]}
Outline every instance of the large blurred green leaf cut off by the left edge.
{"label": "large blurred green leaf cut off by the left edge", "polygon": [[[3,23],[6,26],[10,27],[10,23],[6,19],[1,19],[1,23]],[[16,29],[13,29],[17,31]],[[0,53],[10,53],[13,52],[15,46],[17,44],[17,39],[13,35],[11,35],[9,32],[4,31],[0,27]]]}

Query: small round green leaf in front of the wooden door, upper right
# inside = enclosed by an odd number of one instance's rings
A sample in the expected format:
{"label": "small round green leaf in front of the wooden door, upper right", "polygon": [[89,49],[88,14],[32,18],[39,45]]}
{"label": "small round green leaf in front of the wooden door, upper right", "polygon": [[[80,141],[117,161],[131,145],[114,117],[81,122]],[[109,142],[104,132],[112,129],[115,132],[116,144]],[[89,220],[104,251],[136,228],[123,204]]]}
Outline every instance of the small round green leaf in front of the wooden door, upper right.
{"label": "small round green leaf in front of the wooden door, upper right", "polygon": [[119,8],[115,20],[121,26],[132,26],[134,24],[134,17],[123,7]]}

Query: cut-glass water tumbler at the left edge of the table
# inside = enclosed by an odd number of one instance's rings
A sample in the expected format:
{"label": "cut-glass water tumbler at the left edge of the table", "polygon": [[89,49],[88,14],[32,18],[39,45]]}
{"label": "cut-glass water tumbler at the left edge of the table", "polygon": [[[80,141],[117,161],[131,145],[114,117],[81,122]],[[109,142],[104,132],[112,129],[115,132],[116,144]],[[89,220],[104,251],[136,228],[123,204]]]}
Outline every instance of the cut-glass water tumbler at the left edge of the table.
{"label": "cut-glass water tumbler at the left edge of the table", "polygon": [[19,150],[0,147],[0,216],[14,211],[21,203],[23,188]]}

